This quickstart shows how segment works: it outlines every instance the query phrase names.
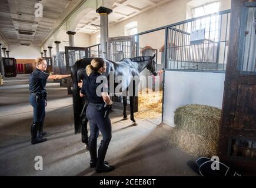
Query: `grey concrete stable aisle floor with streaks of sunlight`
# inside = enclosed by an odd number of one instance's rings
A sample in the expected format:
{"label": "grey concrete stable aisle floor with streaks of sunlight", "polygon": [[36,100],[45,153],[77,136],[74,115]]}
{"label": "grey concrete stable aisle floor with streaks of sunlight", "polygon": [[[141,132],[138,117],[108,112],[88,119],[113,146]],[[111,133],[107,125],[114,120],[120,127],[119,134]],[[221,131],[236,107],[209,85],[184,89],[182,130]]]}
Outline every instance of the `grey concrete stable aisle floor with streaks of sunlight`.
{"label": "grey concrete stable aisle floor with streaks of sunlight", "polygon": [[[67,88],[48,81],[46,89],[48,141],[31,145],[28,75],[6,78],[0,86],[0,176],[198,176],[187,166],[195,158],[169,142],[169,126],[157,126],[160,119],[137,119],[138,125],[132,126],[130,120],[121,120],[118,109],[110,115],[112,140],[106,156],[116,169],[95,173],[89,168],[89,152],[81,135],[74,135]],[[35,156],[42,156],[43,170],[35,170]]]}

